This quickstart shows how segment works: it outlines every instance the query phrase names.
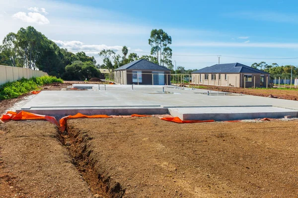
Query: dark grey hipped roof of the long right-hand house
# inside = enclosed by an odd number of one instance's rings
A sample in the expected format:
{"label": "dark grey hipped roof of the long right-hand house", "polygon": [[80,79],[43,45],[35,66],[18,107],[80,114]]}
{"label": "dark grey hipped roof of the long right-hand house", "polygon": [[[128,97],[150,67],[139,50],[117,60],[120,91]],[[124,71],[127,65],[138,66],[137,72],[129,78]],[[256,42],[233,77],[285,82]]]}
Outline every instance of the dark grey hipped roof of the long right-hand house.
{"label": "dark grey hipped roof of the long right-hand house", "polygon": [[205,67],[199,69],[192,73],[260,73],[268,74],[265,71],[255,69],[240,63],[226,63],[226,64],[216,64],[210,67]]}

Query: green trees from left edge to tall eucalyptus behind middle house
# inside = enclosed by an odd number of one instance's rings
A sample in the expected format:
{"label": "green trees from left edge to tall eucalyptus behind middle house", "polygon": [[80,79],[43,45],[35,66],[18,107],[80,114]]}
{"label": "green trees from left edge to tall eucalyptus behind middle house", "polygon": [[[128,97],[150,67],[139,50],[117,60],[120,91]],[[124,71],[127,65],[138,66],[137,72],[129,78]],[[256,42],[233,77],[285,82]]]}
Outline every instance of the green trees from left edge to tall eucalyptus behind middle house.
{"label": "green trees from left edge to tall eucalyptus behind middle house", "polygon": [[123,46],[122,55],[111,49],[103,49],[98,53],[103,64],[96,64],[94,56],[87,56],[83,51],[73,53],[62,49],[34,27],[28,26],[4,37],[0,45],[0,65],[42,70],[64,80],[99,77],[97,68],[114,70],[142,58],[173,69],[171,43],[172,38],[166,32],[153,29],[149,37],[150,55],[128,53],[126,46]]}

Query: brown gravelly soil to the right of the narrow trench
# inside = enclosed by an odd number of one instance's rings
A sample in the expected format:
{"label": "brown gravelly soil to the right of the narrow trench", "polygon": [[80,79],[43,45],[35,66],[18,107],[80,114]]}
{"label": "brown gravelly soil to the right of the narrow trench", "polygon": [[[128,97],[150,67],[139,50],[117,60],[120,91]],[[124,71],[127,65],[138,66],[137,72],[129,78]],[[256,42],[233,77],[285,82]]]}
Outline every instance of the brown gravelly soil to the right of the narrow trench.
{"label": "brown gravelly soil to the right of the narrow trench", "polygon": [[298,195],[297,121],[75,119],[68,121],[68,131],[71,153],[90,188],[101,184],[111,197]]}

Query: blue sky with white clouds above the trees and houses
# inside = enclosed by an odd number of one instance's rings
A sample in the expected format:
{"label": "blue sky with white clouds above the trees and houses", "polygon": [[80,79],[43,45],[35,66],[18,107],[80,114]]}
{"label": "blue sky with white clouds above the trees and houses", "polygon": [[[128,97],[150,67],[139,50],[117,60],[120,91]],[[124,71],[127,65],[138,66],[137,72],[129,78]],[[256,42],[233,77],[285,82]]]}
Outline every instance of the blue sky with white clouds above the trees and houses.
{"label": "blue sky with white clouds above the trees and houses", "polygon": [[[31,25],[69,51],[149,55],[152,29],[186,69],[218,63],[298,65],[296,0],[0,0],[0,40]],[[174,61],[175,60],[175,61]]]}

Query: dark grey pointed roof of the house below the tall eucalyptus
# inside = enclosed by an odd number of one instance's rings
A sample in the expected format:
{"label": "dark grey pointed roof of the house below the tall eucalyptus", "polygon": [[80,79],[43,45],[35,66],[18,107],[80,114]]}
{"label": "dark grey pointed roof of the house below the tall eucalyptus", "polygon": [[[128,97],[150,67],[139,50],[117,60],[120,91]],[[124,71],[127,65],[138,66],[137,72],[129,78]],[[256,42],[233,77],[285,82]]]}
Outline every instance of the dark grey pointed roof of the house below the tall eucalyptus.
{"label": "dark grey pointed roof of the house below the tall eucalyptus", "polygon": [[124,70],[124,69],[136,69],[136,70],[163,70],[163,71],[170,71],[168,68],[150,62],[149,60],[140,59],[135,60],[133,62],[127,63],[121,67],[118,67],[116,70]]}

